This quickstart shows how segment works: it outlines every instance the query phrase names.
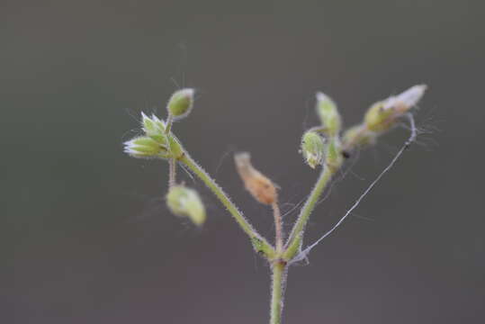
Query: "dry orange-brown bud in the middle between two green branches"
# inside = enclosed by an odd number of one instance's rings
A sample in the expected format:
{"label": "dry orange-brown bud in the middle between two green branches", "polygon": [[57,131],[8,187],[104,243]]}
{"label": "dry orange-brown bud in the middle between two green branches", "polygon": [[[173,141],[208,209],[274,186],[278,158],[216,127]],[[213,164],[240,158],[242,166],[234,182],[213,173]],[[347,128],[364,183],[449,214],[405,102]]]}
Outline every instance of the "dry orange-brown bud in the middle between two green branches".
{"label": "dry orange-brown bud in the middle between two green branches", "polygon": [[234,160],[247,191],[253,195],[256,201],[265,204],[277,202],[276,187],[270,179],[253,167],[249,153],[238,153],[234,156]]}

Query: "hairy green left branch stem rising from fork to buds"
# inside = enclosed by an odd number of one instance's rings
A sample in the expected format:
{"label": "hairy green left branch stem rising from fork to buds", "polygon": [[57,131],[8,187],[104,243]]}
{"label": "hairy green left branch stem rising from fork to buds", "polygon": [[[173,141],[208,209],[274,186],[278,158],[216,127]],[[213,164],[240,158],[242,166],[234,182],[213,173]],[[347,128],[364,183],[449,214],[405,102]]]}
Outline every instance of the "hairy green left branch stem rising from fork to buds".
{"label": "hairy green left branch stem rising from fork to buds", "polygon": [[265,254],[265,257],[273,257],[274,256],[274,247],[272,247],[261,235],[259,235],[256,229],[247,221],[247,219],[243,216],[241,211],[238,210],[236,205],[230,201],[228,195],[222,191],[220,186],[216,184],[216,182],[208,175],[201,166],[199,166],[192,157],[188,155],[187,152],[184,152],[184,156],[180,157],[180,161],[184,163],[185,166],[190,168],[195,175],[197,175],[204,184],[206,184],[211,192],[215,194],[215,196],[220,200],[220,202],[226,207],[226,209],[230,212],[232,217],[236,220],[239,227],[247,234],[253,245],[256,248],[257,245],[257,252],[262,252]]}

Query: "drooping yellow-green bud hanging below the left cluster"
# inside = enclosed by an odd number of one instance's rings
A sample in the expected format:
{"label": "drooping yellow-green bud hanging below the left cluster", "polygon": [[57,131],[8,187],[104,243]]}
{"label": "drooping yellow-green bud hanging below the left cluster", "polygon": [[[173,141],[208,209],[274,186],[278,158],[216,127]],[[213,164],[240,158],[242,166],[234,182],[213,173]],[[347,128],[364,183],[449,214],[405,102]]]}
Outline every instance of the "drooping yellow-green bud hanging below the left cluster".
{"label": "drooping yellow-green bud hanging below the left cluster", "polygon": [[206,219],[201,197],[184,185],[174,185],[168,190],[166,205],[176,216],[188,217],[197,226],[201,226]]}

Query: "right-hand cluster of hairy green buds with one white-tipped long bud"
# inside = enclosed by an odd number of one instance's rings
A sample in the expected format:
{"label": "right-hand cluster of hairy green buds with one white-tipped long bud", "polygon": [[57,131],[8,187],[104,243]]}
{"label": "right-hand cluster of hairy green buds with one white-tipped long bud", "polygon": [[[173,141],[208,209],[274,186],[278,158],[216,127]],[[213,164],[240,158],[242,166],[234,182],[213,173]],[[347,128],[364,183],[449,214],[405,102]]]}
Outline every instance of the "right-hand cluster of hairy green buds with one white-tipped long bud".
{"label": "right-hand cluster of hairy green buds with one white-tipped long bud", "polygon": [[316,108],[321,125],[303,134],[301,154],[312,168],[338,166],[349,151],[373,144],[378,136],[396,125],[400,117],[416,106],[426,89],[426,85],[414,85],[401,94],[374,103],[365,113],[364,121],[346,130],[342,139],[337,104],[328,95],[318,93]]}

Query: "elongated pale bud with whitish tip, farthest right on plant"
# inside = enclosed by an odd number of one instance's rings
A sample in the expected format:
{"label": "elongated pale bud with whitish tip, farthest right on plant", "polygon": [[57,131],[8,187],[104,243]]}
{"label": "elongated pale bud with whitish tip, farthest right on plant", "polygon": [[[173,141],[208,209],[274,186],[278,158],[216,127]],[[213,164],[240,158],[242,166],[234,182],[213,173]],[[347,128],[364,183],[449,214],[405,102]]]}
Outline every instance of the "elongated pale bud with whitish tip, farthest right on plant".
{"label": "elongated pale bud with whitish tip, farthest right on plant", "polygon": [[364,122],[368,130],[389,130],[395,121],[414,107],[425,94],[427,85],[414,85],[401,94],[374,103],[365,113]]}

